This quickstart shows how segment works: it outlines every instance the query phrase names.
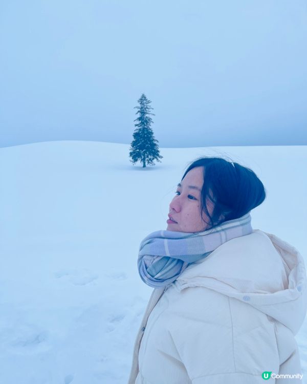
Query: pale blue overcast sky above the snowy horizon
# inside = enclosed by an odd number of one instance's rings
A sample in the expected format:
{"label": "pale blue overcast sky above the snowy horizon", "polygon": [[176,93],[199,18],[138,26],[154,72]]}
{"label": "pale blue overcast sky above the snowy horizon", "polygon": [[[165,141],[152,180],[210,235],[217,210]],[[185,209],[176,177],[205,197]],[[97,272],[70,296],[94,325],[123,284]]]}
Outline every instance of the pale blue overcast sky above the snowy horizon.
{"label": "pale blue overcast sky above the snowy horizon", "polygon": [[307,0],[0,4],[0,146],[307,144]]}

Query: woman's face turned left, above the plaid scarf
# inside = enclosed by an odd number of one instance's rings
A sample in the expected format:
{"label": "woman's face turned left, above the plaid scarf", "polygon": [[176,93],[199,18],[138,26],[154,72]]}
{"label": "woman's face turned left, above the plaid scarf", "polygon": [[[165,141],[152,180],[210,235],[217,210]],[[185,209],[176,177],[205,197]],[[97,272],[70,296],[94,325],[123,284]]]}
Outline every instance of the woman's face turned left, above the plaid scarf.
{"label": "woman's face turned left, above the plaid scarf", "polygon": [[[180,232],[200,232],[207,229],[210,224],[208,216],[203,212],[201,217],[201,189],[204,183],[203,167],[189,170],[177,187],[176,196],[169,204],[169,214],[177,222],[168,221],[167,230]],[[207,199],[207,209],[212,215],[213,204]]]}

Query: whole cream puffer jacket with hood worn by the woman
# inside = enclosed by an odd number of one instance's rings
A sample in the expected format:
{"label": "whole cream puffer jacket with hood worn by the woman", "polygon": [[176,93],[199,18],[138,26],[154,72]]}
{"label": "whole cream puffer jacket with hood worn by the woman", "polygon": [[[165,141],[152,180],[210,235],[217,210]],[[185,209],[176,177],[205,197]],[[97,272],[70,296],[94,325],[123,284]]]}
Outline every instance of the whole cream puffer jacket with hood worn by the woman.
{"label": "whole cream puffer jacket with hood worn by the woman", "polygon": [[153,289],[128,384],[301,383],[306,280],[301,254],[271,233],[227,241]]}

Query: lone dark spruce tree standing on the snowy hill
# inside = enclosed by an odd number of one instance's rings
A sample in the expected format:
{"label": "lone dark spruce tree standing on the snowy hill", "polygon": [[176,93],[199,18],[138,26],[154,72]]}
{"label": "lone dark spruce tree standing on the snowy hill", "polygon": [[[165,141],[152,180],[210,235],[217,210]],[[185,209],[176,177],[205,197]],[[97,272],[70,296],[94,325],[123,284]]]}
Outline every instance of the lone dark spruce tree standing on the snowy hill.
{"label": "lone dark spruce tree standing on the snowy hill", "polygon": [[153,122],[149,115],[155,116],[155,114],[150,113],[150,110],[153,110],[149,105],[151,103],[147,97],[142,94],[139,98],[138,103],[140,106],[135,106],[134,108],[138,109],[139,117],[134,121],[137,121],[135,126],[135,132],[133,133],[133,141],[131,143],[129,157],[131,162],[135,164],[137,161],[143,163],[143,168],[147,165],[155,165],[153,160],[157,160],[161,163],[159,159],[162,159],[163,156],[160,156],[159,148],[157,143],[158,140],[153,136],[153,132],[150,128],[150,124]]}

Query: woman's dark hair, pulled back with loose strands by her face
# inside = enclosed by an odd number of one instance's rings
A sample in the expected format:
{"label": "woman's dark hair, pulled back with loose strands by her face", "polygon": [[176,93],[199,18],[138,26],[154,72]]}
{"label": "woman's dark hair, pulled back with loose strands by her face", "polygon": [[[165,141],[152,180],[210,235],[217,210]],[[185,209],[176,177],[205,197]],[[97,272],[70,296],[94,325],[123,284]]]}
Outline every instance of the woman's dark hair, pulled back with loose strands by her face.
{"label": "woman's dark hair, pulled back with loose strands by her face", "polygon": [[[201,215],[204,220],[205,211],[210,219],[207,223],[210,228],[246,215],[266,198],[265,186],[250,168],[219,157],[205,156],[194,160],[181,180],[189,170],[199,166],[204,167]],[[207,198],[214,204],[212,216],[207,209]],[[221,215],[223,218],[219,220]]]}

